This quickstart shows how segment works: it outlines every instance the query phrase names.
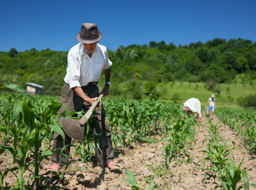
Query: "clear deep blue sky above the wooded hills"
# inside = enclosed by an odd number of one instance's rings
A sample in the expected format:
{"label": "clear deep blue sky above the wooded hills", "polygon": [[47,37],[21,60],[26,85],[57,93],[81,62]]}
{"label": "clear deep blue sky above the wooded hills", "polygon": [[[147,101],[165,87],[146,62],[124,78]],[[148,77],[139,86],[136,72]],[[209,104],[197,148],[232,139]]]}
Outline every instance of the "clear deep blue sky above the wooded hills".
{"label": "clear deep blue sky above the wooded hills", "polygon": [[[97,2],[97,3],[96,3]],[[0,51],[69,51],[82,23],[97,23],[100,44],[175,45],[214,38],[256,41],[256,0],[0,0]]]}

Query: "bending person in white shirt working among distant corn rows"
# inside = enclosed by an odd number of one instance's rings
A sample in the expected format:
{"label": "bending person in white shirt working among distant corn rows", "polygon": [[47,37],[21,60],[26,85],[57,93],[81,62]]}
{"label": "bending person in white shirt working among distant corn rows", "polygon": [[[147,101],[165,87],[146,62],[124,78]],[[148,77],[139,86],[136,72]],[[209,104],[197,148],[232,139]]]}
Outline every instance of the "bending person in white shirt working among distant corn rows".
{"label": "bending person in white shirt working among distant corn rows", "polygon": [[191,98],[185,101],[182,110],[187,112],[188,115],[196,113],[198,122],[201,123],[201,102],[199,99]]}

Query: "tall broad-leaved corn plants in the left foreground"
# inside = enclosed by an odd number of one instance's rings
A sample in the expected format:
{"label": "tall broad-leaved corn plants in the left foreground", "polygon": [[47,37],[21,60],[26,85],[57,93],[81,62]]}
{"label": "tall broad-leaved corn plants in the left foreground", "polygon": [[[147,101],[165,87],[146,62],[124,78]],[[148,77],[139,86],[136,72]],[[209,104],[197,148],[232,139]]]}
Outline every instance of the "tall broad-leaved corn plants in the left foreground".
{"label": "tall broad-leaved corn plants in the left foreground", "polygon": [[[22,89],[17,85],[8,85],[8,87],[12,90],[26,92],[25,89]],[[3,97],[2,100],[7,102],[7,99]],[[5,104],[5,106],[6,105],[7,104]],[[56,124],[57,121],[52,121],[50,119],[52,115],[57,113],[61,106],[62,104],[60,103],[53,103],[47,106],[42,113],[38,113],[36,108],[32,105],[31,101],[17,100],[14,103],[13,109],[9,112],[11,126],[0,125],[0,133],[9,134],[12,136],[12,146],[9,147],[0,143],[0,153],[3,153],[2,150],[10,152],[13,158],[13,162],[18,165],[9,171],[13,172],[14,170],[19,169],[19,177],[17,176],[17,183],[19,184],[20,189],[24,188],[24,171],[29,170],[29,165],[26,163],[26,157],[28,157],[28,154],[32,152],[34,157],[34,162],[32,163],[34,171],[31,172],[33,173],[34,184],[38,185],[38,180],[40,178],[40,162],[42,162],[45,157],[50,156],[52,152],[54,152],[49,150],[40,155],[42,141],[46,135],[46,132],[42,135],[42,131],[56,131],[62,136],[62,138],[65,139],[64,132],[62,131],[61,127]]]}

